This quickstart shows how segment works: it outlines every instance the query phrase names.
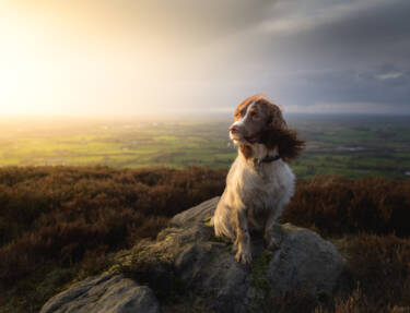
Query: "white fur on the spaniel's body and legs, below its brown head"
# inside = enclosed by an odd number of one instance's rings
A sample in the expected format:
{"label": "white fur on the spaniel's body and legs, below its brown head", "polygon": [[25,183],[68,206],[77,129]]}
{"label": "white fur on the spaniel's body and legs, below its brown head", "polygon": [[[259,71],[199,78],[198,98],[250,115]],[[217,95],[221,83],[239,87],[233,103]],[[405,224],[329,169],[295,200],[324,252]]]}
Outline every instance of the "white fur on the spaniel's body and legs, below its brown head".
{"label": "white fur on the spaniel's body and legs, below its brown head", "polygon": [[[267,151],[262,144],[254,144],[253,152],[254,159],[277,155],[276,149]],[[279,159],[255,164],[254,159],[246,159],[239,151],[227,173],[226,188],[213,218],[215,234],[230,238],[235,243],[241,230],[246,233],[251,230],[265,231],[266,240],[273,240],[270,231],[294,193],[295,177],[286,162]],[[263,220],[256,217],[259,210],[263,210]],[[236,214],[246,216],[245,226],[241,226],[239,230],[233,220]],[[276,242],[268,242],[269,244],[274,246]],[[241,255],[237,254],[236,258],[242,263],[249,263],[250,244],[245,243],[238,248]]]}

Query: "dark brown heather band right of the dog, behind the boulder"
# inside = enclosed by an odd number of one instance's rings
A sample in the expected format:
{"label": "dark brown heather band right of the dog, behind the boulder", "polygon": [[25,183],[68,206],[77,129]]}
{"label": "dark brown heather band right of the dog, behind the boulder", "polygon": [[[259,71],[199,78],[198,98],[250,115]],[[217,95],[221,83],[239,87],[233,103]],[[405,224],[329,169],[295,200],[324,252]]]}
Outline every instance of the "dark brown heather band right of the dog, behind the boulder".
{"label": "dark brown heather band right of the dog, behind the boulder", "polygon": [[410,180],[317,177],[300,181],[282,219],[324,236],[410,236]]}

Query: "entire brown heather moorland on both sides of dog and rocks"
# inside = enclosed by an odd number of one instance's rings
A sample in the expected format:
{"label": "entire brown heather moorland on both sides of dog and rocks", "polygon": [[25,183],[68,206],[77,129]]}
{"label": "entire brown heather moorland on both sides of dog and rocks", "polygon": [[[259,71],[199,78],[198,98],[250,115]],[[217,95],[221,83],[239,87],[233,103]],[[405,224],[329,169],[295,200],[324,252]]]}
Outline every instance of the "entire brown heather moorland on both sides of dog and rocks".
{"label": "entire brown heather moorland on both sides of dog and rocks", "polygon": [[[37,312],[65,286],[109,267],[115,252],[154,238],[175,214],[220,195],[225,174],[206,168],[1,168],[0,312]],[[319,232],[348,258],[345,290],[312,310],[410,306],[410,180],[301,180],[282,220]]]}

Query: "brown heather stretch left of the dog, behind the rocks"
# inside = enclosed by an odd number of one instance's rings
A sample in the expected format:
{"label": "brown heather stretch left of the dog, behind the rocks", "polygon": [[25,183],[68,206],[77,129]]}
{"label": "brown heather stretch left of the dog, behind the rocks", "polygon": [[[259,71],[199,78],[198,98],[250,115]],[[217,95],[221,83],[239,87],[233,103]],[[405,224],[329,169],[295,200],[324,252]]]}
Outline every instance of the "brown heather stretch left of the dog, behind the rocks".
{"label": "brown heather stretch left of the dog, behind the rocks", "polygon": [[70,266],[85,255],[92,264],[93,251],[154,238],[168,217],[220,194],[224,176],[202,168],[1,168],[0,289],[45,263]]}

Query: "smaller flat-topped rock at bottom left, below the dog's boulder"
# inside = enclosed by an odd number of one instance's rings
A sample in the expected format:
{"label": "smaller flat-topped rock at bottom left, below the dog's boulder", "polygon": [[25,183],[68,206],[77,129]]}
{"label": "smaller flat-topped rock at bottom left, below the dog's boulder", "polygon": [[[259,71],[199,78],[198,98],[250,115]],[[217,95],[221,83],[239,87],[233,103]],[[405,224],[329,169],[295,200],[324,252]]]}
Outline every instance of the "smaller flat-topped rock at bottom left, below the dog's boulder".
{"label": "smaller flat-topped rock at bottom left, below the dog's boulder", "polygon": [[86,278],[52,297],[40,313],[159,313],[152,290],[122,275],[105,273]]}

